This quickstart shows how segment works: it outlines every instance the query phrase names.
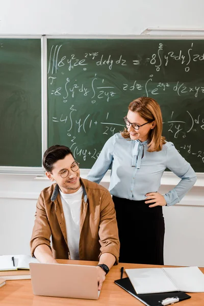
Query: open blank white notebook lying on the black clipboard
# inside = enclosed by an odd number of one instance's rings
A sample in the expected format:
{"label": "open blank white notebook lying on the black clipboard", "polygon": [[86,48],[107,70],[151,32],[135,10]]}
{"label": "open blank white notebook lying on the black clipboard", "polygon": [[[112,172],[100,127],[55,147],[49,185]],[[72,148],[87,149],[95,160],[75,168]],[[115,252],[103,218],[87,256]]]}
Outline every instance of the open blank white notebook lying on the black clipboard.
{"label": "open blank white notebook lying on the black clipboard", "polygon": [[204,292],[198,267],[125,269],[137,294],[171,291]]}

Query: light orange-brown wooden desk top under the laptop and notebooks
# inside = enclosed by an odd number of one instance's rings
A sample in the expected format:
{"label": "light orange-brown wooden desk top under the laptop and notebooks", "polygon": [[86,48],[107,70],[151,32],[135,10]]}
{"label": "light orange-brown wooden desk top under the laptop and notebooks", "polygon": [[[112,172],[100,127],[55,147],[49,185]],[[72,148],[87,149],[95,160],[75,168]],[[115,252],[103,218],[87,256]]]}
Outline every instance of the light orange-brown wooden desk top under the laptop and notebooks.
{"label": "light orange-brown wooden desk top under the laptop and notebooks", "polygon": [[[71,261],[71,260],[59,260],[59,263],[63,264],[82,264],[82,265],[96,265],[96,262],[88,261]],[[74,298],[60,298],[60,297],[47,297],[47,296],[35,296],[33,295],[31,280],[20,281],[7,281],[6,286],[0,288],[0,305],[1,306],[91,306],[91,305],[114,305],[114,306],[142,306],[142,302],[137,300],[130,293],[126,292],[116,284],[115,279],[120,278],[120,268],[147,268],[147,267],[162,267],[162,266],[150,266],[150,265],[136,265],[136,264],[119,264],[113,266],[111,271],[106,277],[106,281],[103,284],[100,296],[98,300],[84,300]],[[204,273],[204,268],[200,268]],[[22,271],[16,271],[21,273]],[[25,273],[23,273],[25,274]],[[1,272],[0,272],[1,275]],[[123,277],[126,277],[124,272]],[[182,302],[176,303],[178,306],[203,306],[204,305],[204,293],[190,293],[191,298]]]}

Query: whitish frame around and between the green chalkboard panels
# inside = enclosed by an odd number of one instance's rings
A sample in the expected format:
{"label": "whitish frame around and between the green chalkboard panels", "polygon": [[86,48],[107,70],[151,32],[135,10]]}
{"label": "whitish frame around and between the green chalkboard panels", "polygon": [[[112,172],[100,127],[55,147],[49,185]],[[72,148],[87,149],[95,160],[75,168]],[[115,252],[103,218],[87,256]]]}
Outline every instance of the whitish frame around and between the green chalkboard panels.
{"label": "whitish frame around and between the green chalkboard panels", "polygon": [[[144,39],[144,40],[152,40],[152,39],[177,39],[177,40],[204,40],[204,37],[201,35],[19,35],[19,36],[8,36],[8,35],[0,35],[0,38],[36,38],[41,39],[41,85],[42,85],[42,97],[41,97],[41,106],[42,106],[42,156],[44,151],[47,149],[47,39]],[[82,169],[82,176],[86,176],[88,174],[89,169]],[[43,167],[7,167],[0,166],[0,174],[36,174],[42,175],[44,174]],[[172,180],[174,178],[171,172],[164,172],[163,177],[170,181],[167,182],[167,185],[171,185]],[[199,183],[197,182],[197,186],[204,186],[204,172],[197,172]],[[108,174],[109,175],[109,174]],[[109,180],[106,179],[108,182]]]}

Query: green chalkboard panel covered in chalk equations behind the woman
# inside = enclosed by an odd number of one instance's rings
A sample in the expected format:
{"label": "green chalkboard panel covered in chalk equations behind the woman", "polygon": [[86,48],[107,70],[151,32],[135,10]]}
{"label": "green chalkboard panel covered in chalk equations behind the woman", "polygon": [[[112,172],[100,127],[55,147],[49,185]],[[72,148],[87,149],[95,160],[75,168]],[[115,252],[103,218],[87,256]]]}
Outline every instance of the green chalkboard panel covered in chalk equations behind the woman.
{"label": "green chalkboard panel covered in chalk equations behind the woman", "polygon": [[155,98],[163,135],[204,172],[204,41],[48,39],[48,146],[71,148],[91,168],[123,129],[129,103]]}

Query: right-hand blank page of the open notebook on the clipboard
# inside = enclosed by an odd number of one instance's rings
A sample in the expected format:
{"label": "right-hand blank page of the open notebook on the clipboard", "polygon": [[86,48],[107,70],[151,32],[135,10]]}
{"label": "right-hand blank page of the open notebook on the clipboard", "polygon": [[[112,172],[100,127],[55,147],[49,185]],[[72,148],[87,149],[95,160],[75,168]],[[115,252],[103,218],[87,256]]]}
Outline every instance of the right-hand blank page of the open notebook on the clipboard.
{"label": "right-hand blank page of the open notebook on the clipboard", "polygon": [[179,290],[184,292],[204,292],[204,274],[198,267],[162,269]]}

